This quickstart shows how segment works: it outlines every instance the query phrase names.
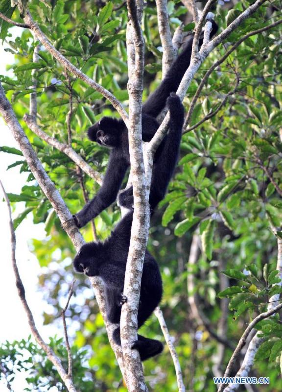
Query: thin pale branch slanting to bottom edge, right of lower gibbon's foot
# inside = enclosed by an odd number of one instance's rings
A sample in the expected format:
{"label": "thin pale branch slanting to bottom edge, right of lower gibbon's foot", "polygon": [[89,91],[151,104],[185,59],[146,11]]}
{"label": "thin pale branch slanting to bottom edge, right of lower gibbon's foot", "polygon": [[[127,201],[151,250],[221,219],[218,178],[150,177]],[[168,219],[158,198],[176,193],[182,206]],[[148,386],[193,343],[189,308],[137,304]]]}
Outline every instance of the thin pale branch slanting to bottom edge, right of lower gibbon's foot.
{"label": "thin pale branch slanting to bottom edge, right of lower gibbon's foot", "polygon": [[166,342],[166,344],[167,344],[167,346],[169,348],[170,355],[172,357],[172,361],[173,361],[174,368],[175,368],[175,373],[176,373],[176,380],[177,380],[177,385],[178,385],[178,391],[179,392],[185,392],[185,386],[184,386],[184,382],[183,382],[182,371],[181,371],[178,355],[177,355],[175,347],[174,347],[174,345],[172,343],[172,338],[171,338],[171,336],[169,334],[169,331],[167,329],[167,326],[166,326],[166,323],[165,323],[165,320],[164,320],[163,312],[161,311],[159,306],[155,309],[154,314],[157,317],[157,319],[159,320],[159,323],[161,325],[161,328],[162,328],[162,331],[163,331],[163,334],[164,334],[165,342]]}

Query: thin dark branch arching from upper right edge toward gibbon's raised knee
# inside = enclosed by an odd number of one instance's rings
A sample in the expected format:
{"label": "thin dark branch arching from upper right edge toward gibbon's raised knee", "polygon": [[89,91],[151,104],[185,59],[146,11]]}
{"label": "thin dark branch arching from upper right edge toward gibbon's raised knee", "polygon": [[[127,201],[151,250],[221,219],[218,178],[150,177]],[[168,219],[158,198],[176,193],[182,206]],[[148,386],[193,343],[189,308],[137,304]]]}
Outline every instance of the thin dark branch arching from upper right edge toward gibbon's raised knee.
{"label": "thin dark branch arching from upper right edge toward gibbon's raised knee", "polygon": [[[203,87],[204,87],[205,83],[207,82],[207,80],[208,80],[209,76],[211,75],[211,73],[212,73],[220,64],[222,64],[222,63],[227,59],[227,57],[228,57],[236,48],[238,48],[238,46],[239,46],[242,42],[244,42],[247,38],[249,38],[249,37],[251,37],[251,36],[253,36],[253,35],[262,33],[263,31],[267,31],[267,30],[269,30],[270,28],[273,28],[273,27],[275,27],[275,26],[277,26],[277,25],[280,25],[281,23],[282,23],[282,20],[279,20],[279,21],[277,21],[277,22],[275,22],[275,23],[272,23],[271,25],[268,25],[268,26],[265,26],[265,27],[263,27],[263,28],[259,28],[258,30],[254,30],[254,31],[249,32],[248,34],[244,35],[244,37],[240,38],[240,39],[235,43],[235,45],[233,45],[233,46],[232,46],[232,47],[231,47],[231,48],[230,48],[230,49],[229,49],[229,50],[228,50],[219,60],[217,60],[214,64],[212,64],[212,66],[211,66],[211,68],[209,69],[209,71],[208,71],[207,73],[205,73],[205,76],[202,78],[201,83],[199,84],[199,86],[198,86],[198,88],[197,88],[197,91],[196,91],[196,93],[195,93],[193,99],[191,100],[191,103],[190,103],[190,105],[189,105],[188,114],[187,114],[187,117],[186,117],[186,120],[185,120],[185,123],[184,123],[184,128],[187,127],[188,123],[189,123],[190,120],[191,120],[192,112],[193,112],[193,110],[194,110],[196,101],[197,101],[197,99],[199,98],[199,96],[200,96],[200,94],[201,94],[201,91],[203,90]],[[191,129],[190,129],[190,130],[191,130]]]}

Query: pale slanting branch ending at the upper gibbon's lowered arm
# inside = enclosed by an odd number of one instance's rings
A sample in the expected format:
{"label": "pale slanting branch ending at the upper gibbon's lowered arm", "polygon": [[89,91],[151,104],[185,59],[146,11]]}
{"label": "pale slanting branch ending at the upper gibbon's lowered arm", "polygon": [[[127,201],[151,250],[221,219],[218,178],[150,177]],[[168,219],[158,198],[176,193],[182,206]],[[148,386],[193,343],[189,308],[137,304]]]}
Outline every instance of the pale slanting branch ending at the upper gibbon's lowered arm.
{"label": "pale slanting branch ending at the upper gibbon's lowered arm", "polygon": [[34,132],[37,136],[39,136],[42,140],[48,143],[50,146],[57,148],[59,151],[66,154],[77,166],[79,166],[83,172],[88,174],[91,178],[93,178],[99,185],[103,182],[103,177],[100,173],[96,172],[92,167],[85,162],[84,159],[78,155],[74,149],[70,146],[59,142],[57,139],[47,135],[39,125],[37,125],[34,119],[27,114],[24,115],[24,121],[28,125],[28,127]]}

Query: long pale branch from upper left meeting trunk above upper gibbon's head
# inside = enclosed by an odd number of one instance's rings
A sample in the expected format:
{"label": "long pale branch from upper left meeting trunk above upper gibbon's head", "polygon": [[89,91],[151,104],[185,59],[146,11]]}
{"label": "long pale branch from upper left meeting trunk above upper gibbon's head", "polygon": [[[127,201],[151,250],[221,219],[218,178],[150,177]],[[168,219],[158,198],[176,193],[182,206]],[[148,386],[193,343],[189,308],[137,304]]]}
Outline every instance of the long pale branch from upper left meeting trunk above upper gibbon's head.
{"label": "long pale branch from upper left meeting trunk above upper gibbon's head", "polygon": [[124,110],[122,104],[118,101],[118,99],[110,93],[108,90],[106,90],[104,87],[102,87],[100,84],[96,83],[93,79],[91,79],[89,76],[87,76],[85,73],[81,72],[78,68],[76,68],[66,57],[64,57],[57,49],[53,47],[53,45],[50,44],[48,41],[46,35],[43,33],[43,31],[39,28],[37,23],[32,19],[32,16],[30,15],[30,12],[27,11],[26,16],[24,17],[24,21],[27,22],[27,24],[30,26],[31,30],[34,32],[36,35],[37,39],[41,42],[41,44],[47,49],[47,51],[55,57],[56,60],[60,64],[63,65],[65,69],[73,73],[74,76],[78,77],[82,81],[84,81],[86,84],[88,84],[90,87],[92,87],[94,90],[98,91],[100,94],[102,94],[105,98],[107,98],[111,104],[114,106],[115,109],[117,109],[120,117],[124,121],[125,124],[128,122],[128,115],[126,111]]}

